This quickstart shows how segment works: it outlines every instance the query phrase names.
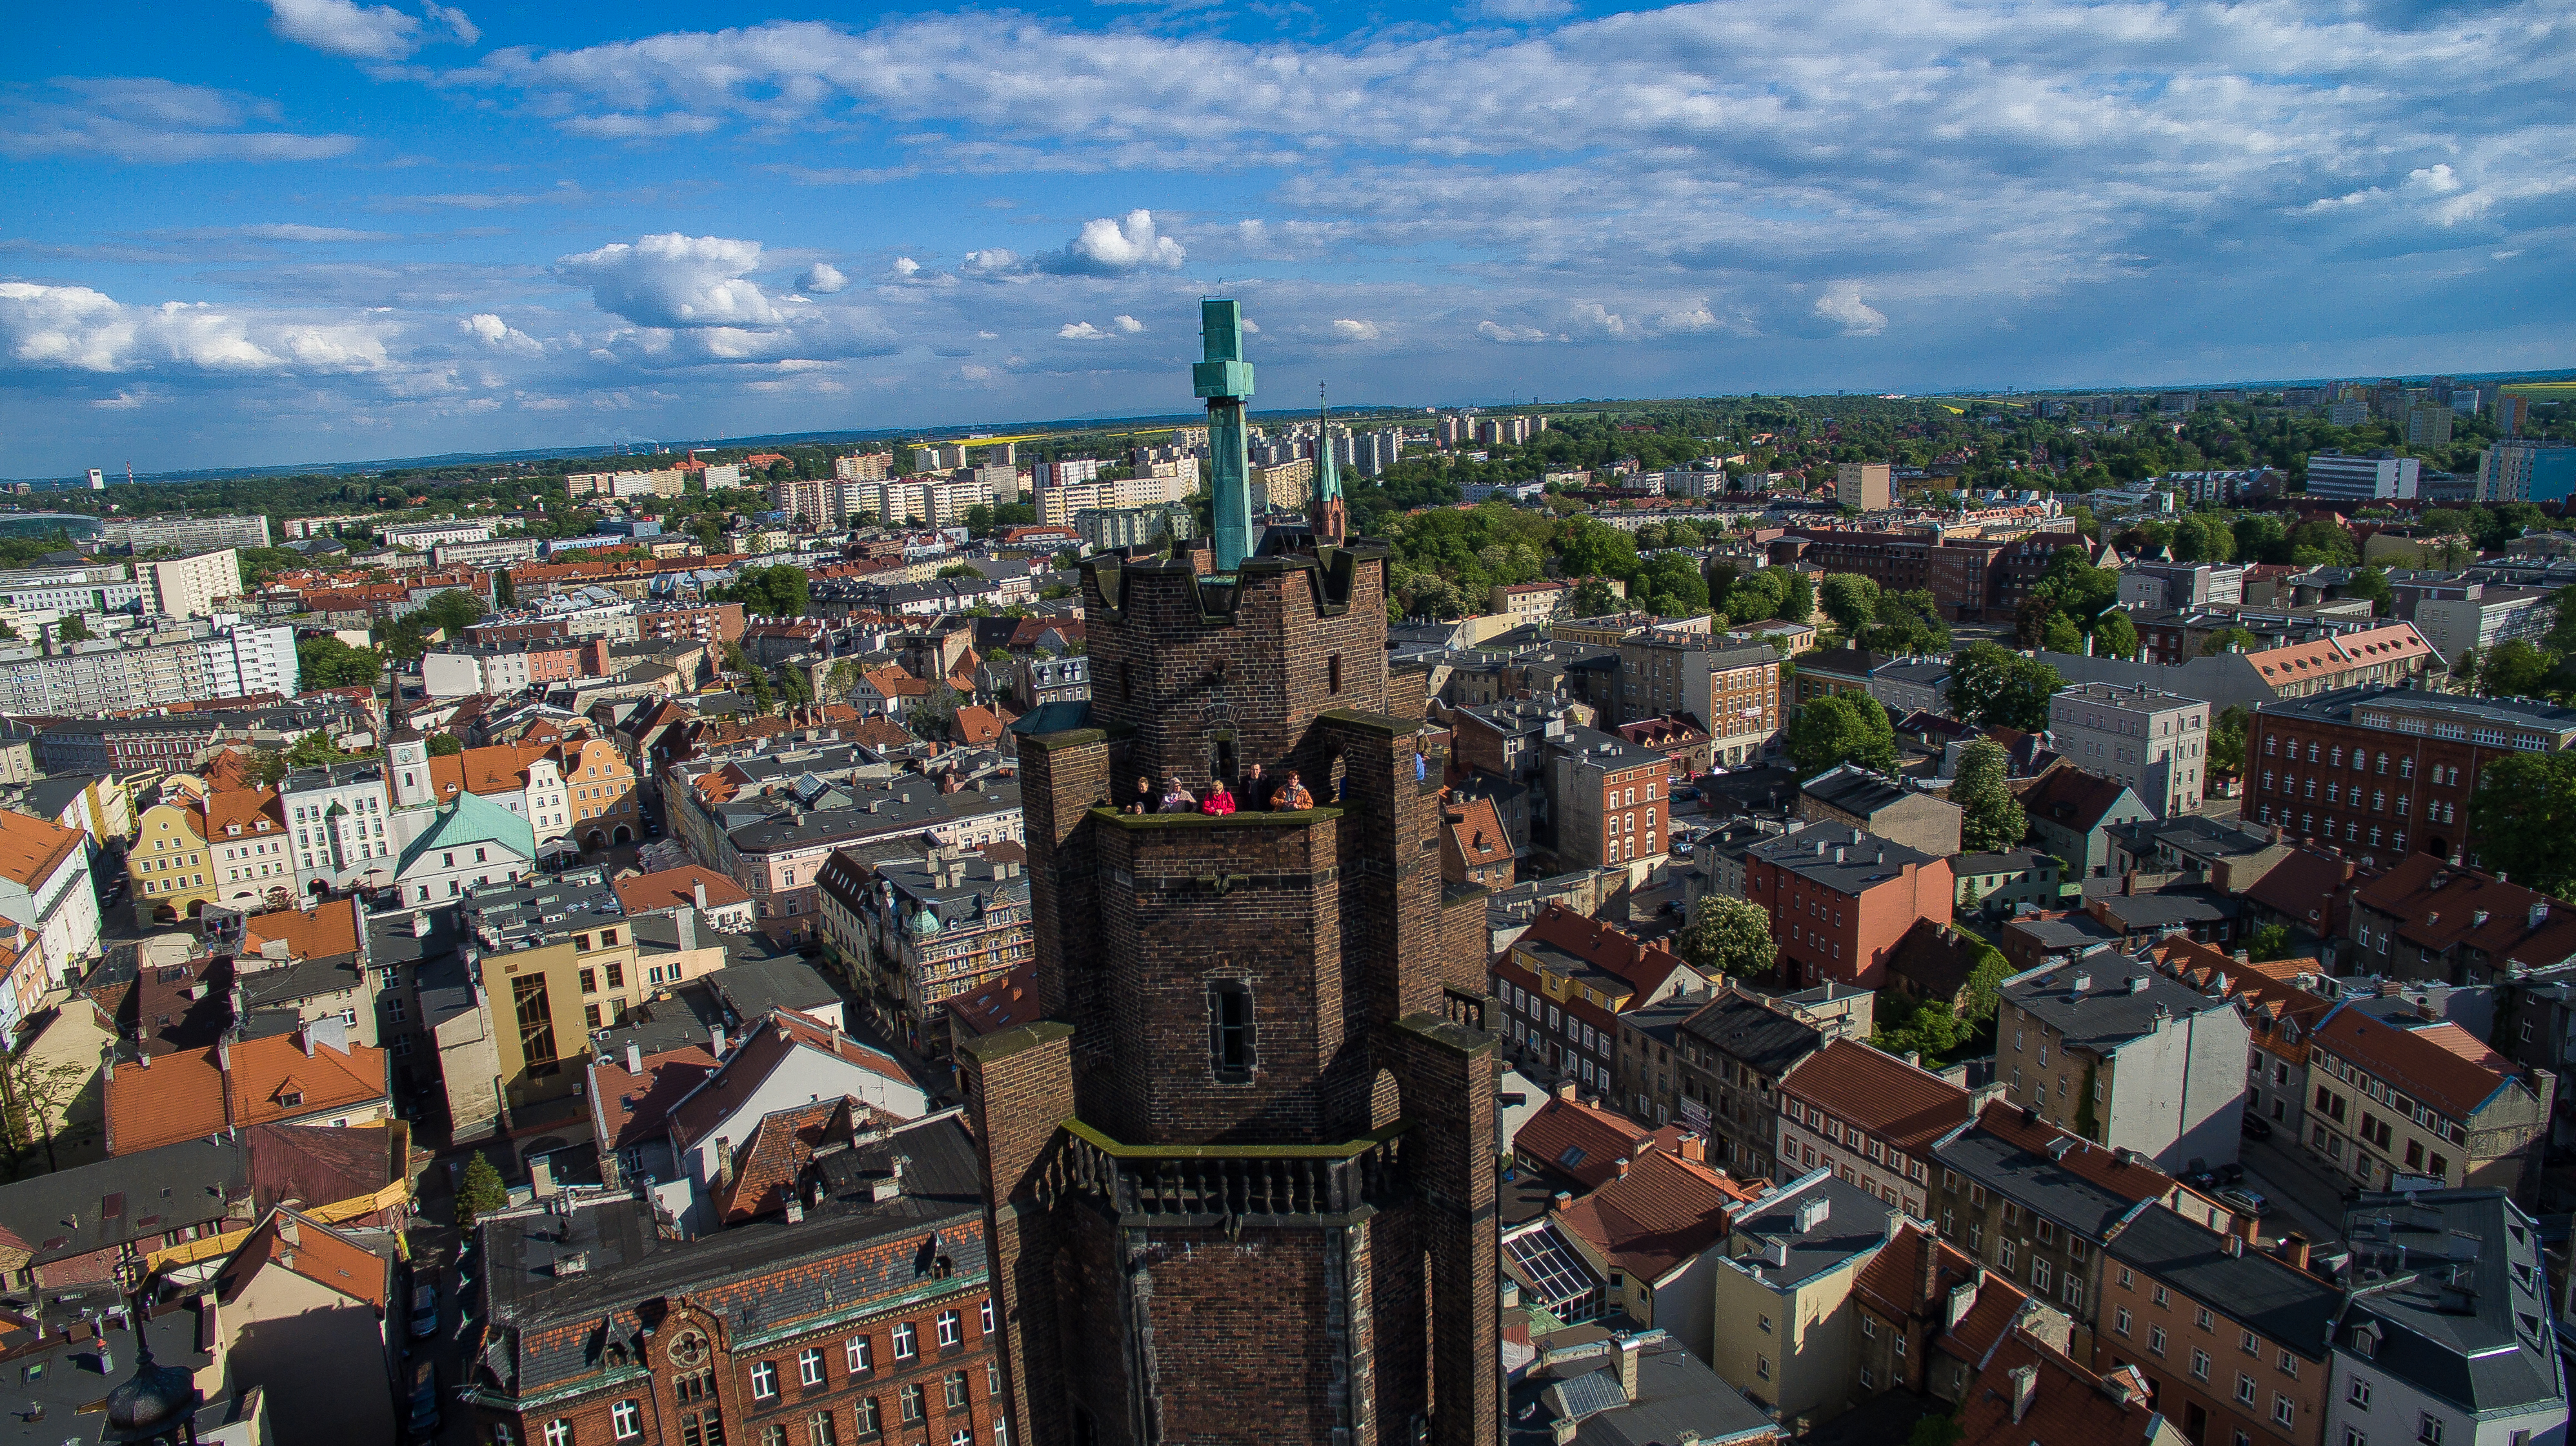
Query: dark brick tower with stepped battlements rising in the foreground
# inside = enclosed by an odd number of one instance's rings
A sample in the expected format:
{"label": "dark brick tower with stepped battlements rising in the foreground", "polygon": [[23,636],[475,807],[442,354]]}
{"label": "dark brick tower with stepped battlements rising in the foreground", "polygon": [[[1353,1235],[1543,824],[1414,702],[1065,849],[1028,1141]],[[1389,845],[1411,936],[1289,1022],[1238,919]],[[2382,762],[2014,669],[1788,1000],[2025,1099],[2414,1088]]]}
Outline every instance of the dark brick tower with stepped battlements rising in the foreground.
{"label": "dark brick tower with stepped battlements rising in the foreground", "polygon": [[[1012,1443],[1486,1446],[1484,898],[1443,893],[1386,548],[1273,530],[1082,592],[1090,718],[1020,744],[1046,1019],[958,1050]],[[1255,762],[1316,808],[1110,805]]]}

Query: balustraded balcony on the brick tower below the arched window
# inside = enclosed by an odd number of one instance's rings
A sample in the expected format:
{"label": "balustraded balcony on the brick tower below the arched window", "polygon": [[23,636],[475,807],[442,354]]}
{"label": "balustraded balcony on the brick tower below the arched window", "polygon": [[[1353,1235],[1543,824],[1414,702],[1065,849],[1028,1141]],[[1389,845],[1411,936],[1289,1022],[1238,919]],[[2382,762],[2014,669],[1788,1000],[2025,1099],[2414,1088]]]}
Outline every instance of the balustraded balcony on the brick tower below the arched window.
{"label": "balustraded balcony on the brick tower below the arched window", "polygon": [[1342,1145],[1121,1145],[1066,1119],[1038,1199],[1090,1196],[1123,1222],[1319,1225],[1406,1196],[1406,1130],[1396,1122]]}

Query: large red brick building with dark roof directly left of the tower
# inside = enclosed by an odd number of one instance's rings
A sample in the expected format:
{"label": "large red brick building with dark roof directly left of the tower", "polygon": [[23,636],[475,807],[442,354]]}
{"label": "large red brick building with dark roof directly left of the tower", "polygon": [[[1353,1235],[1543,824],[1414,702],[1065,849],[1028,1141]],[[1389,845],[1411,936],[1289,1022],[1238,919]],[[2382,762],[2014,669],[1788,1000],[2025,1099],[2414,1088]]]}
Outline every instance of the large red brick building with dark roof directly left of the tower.
{"label": "large red brick building with dark roof directly left of the tower", "polygon": [[459,1382],[474,1436],[999,1441],[994,1281],[958,1117],[817,1150],[778,1207],[696,1240],[662,1235],[629,1191],[482,1217]]}

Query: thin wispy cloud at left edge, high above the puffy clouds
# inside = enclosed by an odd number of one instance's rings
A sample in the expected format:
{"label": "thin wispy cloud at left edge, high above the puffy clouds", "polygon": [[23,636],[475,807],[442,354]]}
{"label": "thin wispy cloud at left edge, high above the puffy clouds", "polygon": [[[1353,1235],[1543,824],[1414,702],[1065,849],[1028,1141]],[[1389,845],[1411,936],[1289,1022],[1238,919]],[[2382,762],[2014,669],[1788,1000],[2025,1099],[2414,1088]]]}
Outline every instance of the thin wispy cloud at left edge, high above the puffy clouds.
{"label": "thin wispy cloud at left edge, high above the puffy clouds", "polygon": [[80,154],[134,165],[206,160],[330,160],[358,136],[255,129],[276,124],[276,100],[152,77],[57,77],[64,95],[0,98],[0,152]]}

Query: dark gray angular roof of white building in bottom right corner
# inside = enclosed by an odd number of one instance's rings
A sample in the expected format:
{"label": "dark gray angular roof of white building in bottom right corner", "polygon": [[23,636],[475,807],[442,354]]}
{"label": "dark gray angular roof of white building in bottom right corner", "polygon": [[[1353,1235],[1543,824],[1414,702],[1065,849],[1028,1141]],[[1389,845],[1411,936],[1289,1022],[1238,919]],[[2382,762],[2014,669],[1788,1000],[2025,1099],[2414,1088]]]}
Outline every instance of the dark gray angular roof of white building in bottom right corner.
{"label": "dark gray angular roof of white building in bottom right corner", "polygon": [[2540,1235],[2499,1189],[2365,1194],[2344,1212],[2352,1299],[2334,1343],[2378,1322],[2370,1366],[2473,1413],[2566,1397]]}

